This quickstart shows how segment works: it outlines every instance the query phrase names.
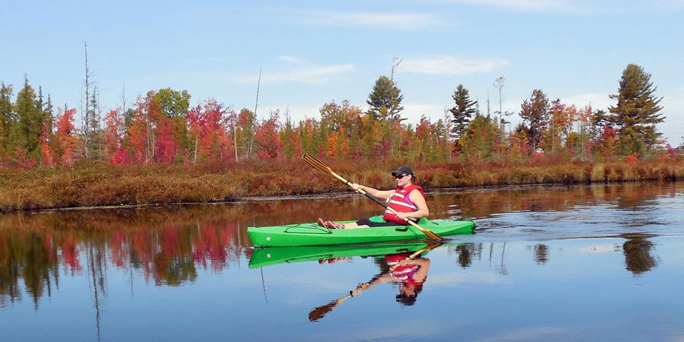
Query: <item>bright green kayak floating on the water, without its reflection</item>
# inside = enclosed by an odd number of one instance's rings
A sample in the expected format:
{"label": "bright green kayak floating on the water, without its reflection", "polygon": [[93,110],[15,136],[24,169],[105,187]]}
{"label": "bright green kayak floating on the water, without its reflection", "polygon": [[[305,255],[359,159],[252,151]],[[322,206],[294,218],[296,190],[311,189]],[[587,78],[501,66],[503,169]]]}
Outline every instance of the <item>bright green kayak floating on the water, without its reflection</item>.
{"label": "bright green kayak floating on the water, without its reflection", "polygon": [[[346,223],[353,221],[341,221]],[[470,234],[474,221],[420,219],[420,227],[444,235]],[[425,234],[412,226],[370,227],[358,229],[328,229],[316,223],[285,224],[273,227],[249,227],[247,234],[256,247],[316,246],[328,244],[368,244],[401,240],[426,239]]]}

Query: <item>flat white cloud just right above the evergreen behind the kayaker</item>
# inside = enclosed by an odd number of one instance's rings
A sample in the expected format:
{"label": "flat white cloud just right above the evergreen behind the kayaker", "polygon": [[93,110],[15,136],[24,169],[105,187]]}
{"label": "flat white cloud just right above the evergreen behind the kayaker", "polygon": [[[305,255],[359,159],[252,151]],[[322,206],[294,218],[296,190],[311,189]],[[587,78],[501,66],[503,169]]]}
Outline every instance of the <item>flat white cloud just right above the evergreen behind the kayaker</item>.
{"label": "flat white cloud just right above the evergreen behind the kayaker", "polygon": [[434,56],[405,58],[397,71],[427,75],[467,75],[469,73],[488,73],[494,68],[506,65],[508,65],[508,61],[501,58],[468,59],[455,56]]}

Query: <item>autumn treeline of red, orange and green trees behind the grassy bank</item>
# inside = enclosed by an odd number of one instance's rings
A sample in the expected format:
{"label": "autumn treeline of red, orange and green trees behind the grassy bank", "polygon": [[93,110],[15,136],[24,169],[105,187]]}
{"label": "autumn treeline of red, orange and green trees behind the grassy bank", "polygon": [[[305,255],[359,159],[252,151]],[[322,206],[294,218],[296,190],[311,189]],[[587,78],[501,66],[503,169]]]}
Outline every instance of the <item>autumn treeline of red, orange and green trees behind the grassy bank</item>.
{"label": "autumn treeline of red, orange and green trees behind the grassy bank", "polygon": [[[138,96],[103,113],[97,88],[86,78],[81,110],[55,109],[50,95],[28,79],[14,98],[12,86],[0,83],[0,166],[69,167],[77,160],[120,165],[163,163],[190,165],[212,161],[291,160],[304,152],[331,160],[408,162],[610,161],[631,156],[674,156],[655,125],[663,109],[651,75],[628,65],[610,108],[578,108],[549,100],[532,90],[519,112],[522,123],[507,130],[501,109],[485,113],[463,85],[452,95],[450,110],[432,122],[402,117],[403,95],[381,76],[366,101],[368,109],[348,100],[325,103],[320,118],[298,123],[274,110],[258,120],[248,109],[234,111],[214,99],[190,108],[186,90],[163,88]],[[500,91],[504,78],[494,83]],[[13,100],[14,98],[14,100]],[[445,101],[447,102],[447,101]],[[495,106],[494,106],[495,107]],[[487,103],[489,108],[489,103]],[[78,125],[76,125],[76,117]]]}

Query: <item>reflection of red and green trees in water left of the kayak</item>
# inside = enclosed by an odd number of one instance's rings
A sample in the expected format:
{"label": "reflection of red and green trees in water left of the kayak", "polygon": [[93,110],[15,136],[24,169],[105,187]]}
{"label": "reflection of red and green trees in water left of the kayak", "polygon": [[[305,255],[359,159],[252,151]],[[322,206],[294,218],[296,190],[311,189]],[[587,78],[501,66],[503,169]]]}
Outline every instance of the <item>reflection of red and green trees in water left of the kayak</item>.
{"label": "reflection of red and green trees in water left of the kayak", "polygon": [[156,285],[195,281],[198,268],[220,271],[249,254],[241,241],[245,234],[237,232],[244,224],[231,221],[237,215],[234,208],[195,207],[2,217],[0,306],[26,294],[38,309],[40,299],[58,286],[60,274],[85,271],[99,312],[107,296],[108,265],[140,272]]}

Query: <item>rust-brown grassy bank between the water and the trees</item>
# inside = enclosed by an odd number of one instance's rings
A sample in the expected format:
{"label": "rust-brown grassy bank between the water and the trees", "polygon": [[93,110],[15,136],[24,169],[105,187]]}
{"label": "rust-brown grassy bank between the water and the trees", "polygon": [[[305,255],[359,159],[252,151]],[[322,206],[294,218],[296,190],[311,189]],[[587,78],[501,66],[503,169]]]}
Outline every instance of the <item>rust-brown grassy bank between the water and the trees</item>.
{"label": "rust-brown grassy bank between the water and the trees", "polygon": [[[401,161],[329,162],[352,182],[391,188],[388,173]],[[416,164],[426,188],[574,184],[684,179],[684,160],[568,162],[549,165]],[[247,196],[348,191],[342,182],[296,161],[204,165],[115,166],[81,163],[68,169],[0,170],[0,211],[103,205],[230,201]]]}

